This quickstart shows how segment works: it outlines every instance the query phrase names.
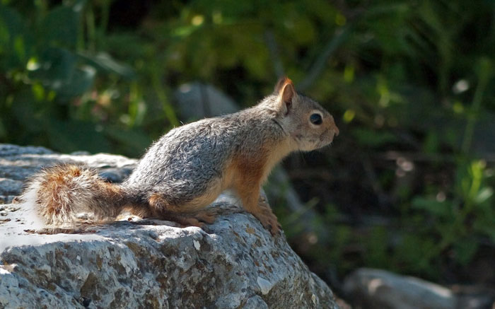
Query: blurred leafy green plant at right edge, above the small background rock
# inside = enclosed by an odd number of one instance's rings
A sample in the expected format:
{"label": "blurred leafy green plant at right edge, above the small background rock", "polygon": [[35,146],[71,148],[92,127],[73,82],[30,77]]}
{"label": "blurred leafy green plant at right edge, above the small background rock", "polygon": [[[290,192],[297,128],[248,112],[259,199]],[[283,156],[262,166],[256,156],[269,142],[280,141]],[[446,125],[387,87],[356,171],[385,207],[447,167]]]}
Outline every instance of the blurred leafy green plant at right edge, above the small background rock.
{"label": "blurred leafy green plant at right edge, above the small background rock", "polygon": [[[456,182],[450,199],[443,196],[433,198],[416,197],[412,208],[423,212],[434,225],[423,228],[417,238],[430,237],[438,243],[428,249],[429,260],[438,257],[445,250],[453,250],[453,260],[465,265],[477,252],[477,239],[489,238],[492,242],[493,228],[487,218],[495,218],[493,189],[487,184],[491,172],[484,161],[471,161],[458,165]],[[487,177],[487,174],[490,175]],[[493,221],[491,221],[493,222]],[[426,264],[425,267],[432,267]]]}

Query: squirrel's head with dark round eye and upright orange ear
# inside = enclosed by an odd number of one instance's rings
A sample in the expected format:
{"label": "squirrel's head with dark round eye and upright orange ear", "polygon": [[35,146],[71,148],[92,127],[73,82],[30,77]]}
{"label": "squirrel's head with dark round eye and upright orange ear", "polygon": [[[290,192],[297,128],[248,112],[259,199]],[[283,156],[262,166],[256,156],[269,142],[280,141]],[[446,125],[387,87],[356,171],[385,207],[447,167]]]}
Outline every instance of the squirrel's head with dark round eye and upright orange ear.
{"label": "squirrel's head with dark round eye and upright orange ear", "polygon": [[339,135],[334,118],[325,108],[296,92],[289,78],[275,86],[277,122],[296,142],[298,150],[311,151],[332,142]]}

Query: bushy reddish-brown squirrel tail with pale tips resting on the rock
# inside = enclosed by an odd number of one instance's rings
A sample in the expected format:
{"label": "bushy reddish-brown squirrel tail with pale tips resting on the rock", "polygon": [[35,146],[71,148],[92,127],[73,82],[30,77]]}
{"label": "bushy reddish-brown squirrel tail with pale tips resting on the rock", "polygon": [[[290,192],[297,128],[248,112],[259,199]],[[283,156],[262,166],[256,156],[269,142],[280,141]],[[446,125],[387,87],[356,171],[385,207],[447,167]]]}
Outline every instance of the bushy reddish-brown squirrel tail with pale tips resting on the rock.
{"label": "bushy reddish-brown squirrel tail with pale tips resting on the rock", "polygon": [[33,204],[45,223],[55,226],[81,218],[115,219],[130,202],[120,185],[106,182],[95,170],[78,165],[57,165],[37,173],[21,200]]}

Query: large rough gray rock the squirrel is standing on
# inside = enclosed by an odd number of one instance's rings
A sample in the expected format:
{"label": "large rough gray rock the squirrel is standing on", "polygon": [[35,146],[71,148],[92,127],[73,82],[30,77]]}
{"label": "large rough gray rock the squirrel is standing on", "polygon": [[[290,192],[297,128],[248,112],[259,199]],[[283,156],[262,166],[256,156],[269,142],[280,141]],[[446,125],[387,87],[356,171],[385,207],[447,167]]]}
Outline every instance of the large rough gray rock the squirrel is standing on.
{"label": "large rough gray rock the squirrel is standing on", "polygon": [[[1,198],[60,161],[112,181],[136,162],[0,145]],[[217,200],[221,216],[204,229],[139,220],[54,231],[33,228],[18,204],[0,205],[0,308],[338,308],[284,235],[273,238],[235,201]]]}

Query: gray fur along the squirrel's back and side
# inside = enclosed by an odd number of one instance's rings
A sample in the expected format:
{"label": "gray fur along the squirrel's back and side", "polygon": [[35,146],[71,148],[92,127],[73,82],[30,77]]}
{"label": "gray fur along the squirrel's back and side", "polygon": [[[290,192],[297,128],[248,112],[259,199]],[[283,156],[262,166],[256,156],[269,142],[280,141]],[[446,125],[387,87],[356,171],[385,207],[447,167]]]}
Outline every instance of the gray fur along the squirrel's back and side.
{"label": "gray fur along the squirrel's back and side", "polygon": [[160,192],[171,204],[201,196],[209,182],[222,177],[234,153],[257,153],[264,141],[286,137],[270,108],[274,98],[231,115],[172,129],[148,149],[124,187],[145,199]]}

